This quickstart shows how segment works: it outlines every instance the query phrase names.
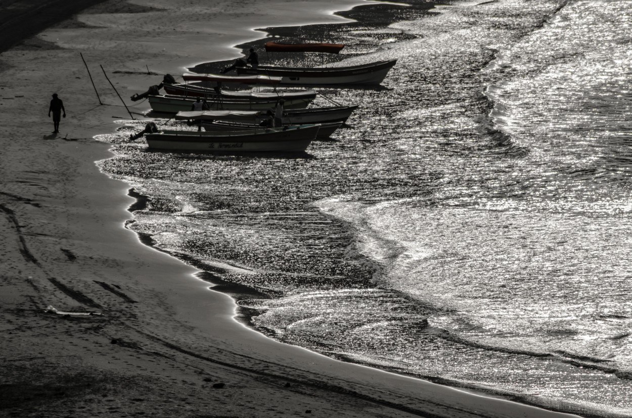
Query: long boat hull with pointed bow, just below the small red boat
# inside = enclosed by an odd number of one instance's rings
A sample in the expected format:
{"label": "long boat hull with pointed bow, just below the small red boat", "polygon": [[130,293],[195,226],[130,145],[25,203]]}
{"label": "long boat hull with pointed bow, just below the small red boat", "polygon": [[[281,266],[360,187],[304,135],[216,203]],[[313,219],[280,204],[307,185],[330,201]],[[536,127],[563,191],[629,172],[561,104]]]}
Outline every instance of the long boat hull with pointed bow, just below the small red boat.
{"label": "long boat hull with pointed bow, just below the small red boat", "polygon": [[269,75],[281,77],[287,85],[379,85],[397,60],[349,67],[277,67],[258,66],[236,68],[239,75]]}

